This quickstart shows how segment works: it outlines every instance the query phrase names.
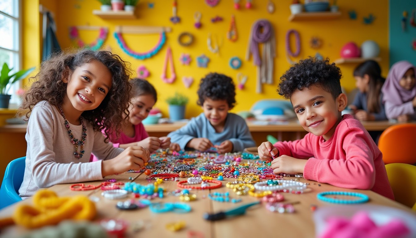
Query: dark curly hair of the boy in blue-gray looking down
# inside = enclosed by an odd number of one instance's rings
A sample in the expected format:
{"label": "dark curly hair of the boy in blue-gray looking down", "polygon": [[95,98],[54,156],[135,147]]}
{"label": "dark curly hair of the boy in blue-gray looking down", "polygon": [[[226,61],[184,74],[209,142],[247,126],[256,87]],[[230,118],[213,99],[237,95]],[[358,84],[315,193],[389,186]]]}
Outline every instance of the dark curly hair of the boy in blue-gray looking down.
{"label": "dark curly hair of the boy in blue-gray looking down", "polygon": [[235,85],[233,79],[219,73],[209,73],[201,79],[198,89],[198,105],[202,106],[206,98],[226,100],[230,109],[235,105]]}

